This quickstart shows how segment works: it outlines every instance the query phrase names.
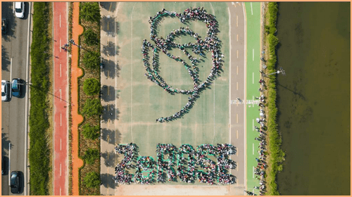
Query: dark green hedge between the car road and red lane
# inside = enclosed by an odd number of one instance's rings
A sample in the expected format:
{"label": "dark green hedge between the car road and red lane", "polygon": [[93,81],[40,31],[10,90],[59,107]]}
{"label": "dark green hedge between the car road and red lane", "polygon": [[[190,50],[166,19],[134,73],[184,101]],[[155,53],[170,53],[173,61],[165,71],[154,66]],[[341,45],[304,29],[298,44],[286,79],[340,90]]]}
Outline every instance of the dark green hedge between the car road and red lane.
{"label": "dark green hedge between the car road and red lane", "polygon": [[46,96],[49,91],[49,3],[33,4],[33,35],[30,48],[30,195],[49,195],[49,147],[46,131],[49,128]]}

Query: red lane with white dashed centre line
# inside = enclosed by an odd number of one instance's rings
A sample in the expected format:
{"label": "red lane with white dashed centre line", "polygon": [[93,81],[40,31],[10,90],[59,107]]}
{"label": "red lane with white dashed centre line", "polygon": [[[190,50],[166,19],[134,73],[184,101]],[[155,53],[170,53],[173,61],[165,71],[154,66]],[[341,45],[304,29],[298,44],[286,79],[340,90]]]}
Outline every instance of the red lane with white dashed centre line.
{"label": "red lane with white dashed centre line", "polygon": [[54,195],[68,195],[68,3],[54,2]]}

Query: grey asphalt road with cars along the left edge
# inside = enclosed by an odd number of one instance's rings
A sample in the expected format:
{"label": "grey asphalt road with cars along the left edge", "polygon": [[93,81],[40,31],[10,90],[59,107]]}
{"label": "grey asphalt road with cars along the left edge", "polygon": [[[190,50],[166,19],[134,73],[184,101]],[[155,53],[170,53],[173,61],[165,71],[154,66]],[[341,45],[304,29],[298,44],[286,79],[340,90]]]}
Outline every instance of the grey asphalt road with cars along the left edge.
{"label": "grey asphalt road with cars along the left edge", "polygon": [[[26,80],[27,36],[29,4],[25,2],[25,18],[16,18],[13,2],[1,3],[1,17],[8,20],[8,33],[1,37],[1,79],[11,82],[20,77]],[[27,88],[26,88],[27,92]],[[1,102],[1,155],[10,158],[10,173],[25,173],[25,98],[12,97],[10,102]],[[11,151],[9,151],[11,143]],[[9,152],[11,154],[9,155]],[[1,176],[1,195],[12,195],[8,186],[8,165],[6,175]],[[25,191],[21,195],[24,195]]]}

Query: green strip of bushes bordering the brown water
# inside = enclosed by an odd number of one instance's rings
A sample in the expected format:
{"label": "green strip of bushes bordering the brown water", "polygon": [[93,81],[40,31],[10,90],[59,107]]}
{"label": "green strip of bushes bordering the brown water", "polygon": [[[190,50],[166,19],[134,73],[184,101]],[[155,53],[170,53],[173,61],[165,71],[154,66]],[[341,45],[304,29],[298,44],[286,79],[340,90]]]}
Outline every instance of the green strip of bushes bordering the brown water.
{"label": "green strip of bushes bordering the brown water", "polygon": [[[267,32],[267,42],[269,44],[269,58],[267,62],[267,73],[275,72],[277,62],[276,46],[279,44],[279,39],[276,37],[276,21],[277,21],[277,3],[268,3],[268,20],[269,24],[265,25]],[[276,76],[270,75],[268,80],[268,167],[267,171],[267,193],[266,195],[279,195],[277,191],[276,175],[282,170],[282,161],[284,160],[284,151],[281,149],[282,139],[277,131],[277,106],[276,106]]]}

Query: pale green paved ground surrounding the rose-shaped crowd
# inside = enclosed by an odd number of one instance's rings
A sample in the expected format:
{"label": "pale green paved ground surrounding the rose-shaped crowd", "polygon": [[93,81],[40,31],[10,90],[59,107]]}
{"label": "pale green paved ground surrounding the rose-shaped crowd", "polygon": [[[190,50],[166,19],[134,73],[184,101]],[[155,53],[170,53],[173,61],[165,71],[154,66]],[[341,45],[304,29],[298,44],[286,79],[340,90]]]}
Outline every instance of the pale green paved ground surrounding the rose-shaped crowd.
{"label": "pale green paved ground surrounding the rose-shaped crowd", "polygon": [[[189,96],[168,94],[144,76],[146,70],[142,62],[141,46],[143,39],[151,42],[148,19],[158,11],[162,11],[163,8],[183,13],[184,9],[191,6],[203,6],[218,20],[220,30],[218,37],[222,41],[221,51],[225,55],[225,63],[222,67],[224,72],[221,74],[222,77],[218,77],[210,86],[210,89],[201,92],[200,98],[190,112],[184,115],[184,118],[168,123],[156,122],[158,117],[167,117],[179,111],[187,103]],[[118,8],[116,18],[119,23],[116,39],[120,47],[118,61],[121,67],[120,77],[117,79],[120,90],[117,105],[120,110],[117,124],[118,131],[121,133],[120,144],[133,142],[139,146],[139,155],[149,155],[156,159],[158,143],[174,144],[177,148],[181,144],[191,144],[196,148],[201,144],[228,143],[230,46],[227,4],[223,2],[211,4],[203,2],[122,3]],[[158,37],[165,38],[172,30],[180,27],[186,27],[186,25],[180,23],[178,18],[166,18],[158,26]],[[202,39],[205,38],[207,30],[205,23],[195,21],[191,22],[189,27],[199,33]],[[182,44],[194,42],[194,38],[182,36],[175,39],[175,42]],[[151,44],[154,43],[151,42]],[[174,49],[170,53],[184,58],[179,49]],[[151,56],[151,51],[149,56]],[[193,81],[182,63],[168,58],[162,52],[159,56],[160,75],[165,82],[178,89],[193,88]],[[211,54],[208,53],[204,62],[199,63],[199,79],[202,81],[210,73],[212,67],[210,61]],[[181,184],[181,182],[167,183]]]}

